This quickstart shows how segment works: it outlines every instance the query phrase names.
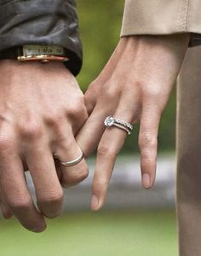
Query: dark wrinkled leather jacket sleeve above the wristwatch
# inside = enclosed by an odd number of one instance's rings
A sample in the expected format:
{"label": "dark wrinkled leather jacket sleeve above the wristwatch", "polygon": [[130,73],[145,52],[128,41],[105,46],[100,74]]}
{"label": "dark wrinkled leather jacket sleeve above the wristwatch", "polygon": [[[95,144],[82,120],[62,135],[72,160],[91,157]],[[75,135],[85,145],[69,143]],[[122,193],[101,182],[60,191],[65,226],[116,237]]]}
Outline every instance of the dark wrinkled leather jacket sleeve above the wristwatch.
{"label": "dark wrinkled leather jacket sleeve above the wristwatch", "polygon": [[82,44],[74,0],[0,0],[0,51],[22,44],[53,44],[67,49],[66,66],[82,66]]}

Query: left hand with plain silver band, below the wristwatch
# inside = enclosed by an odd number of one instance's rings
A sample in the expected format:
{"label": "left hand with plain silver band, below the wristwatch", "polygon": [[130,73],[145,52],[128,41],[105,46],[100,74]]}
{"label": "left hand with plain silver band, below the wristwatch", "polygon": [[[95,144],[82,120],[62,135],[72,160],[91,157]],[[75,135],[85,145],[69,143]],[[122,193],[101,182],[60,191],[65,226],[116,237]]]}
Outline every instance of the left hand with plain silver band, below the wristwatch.
{"label": "left hand with plain silver band, below the wristwatch", "polygon": [[[84,160],[64,167],[55,160],[74,160],[80,148],[74,135],[88,118],[83,93],[62,63],[0,61],[0,194],[5,218],[14,214],[28,230],[45,229],[43,216],[62,209],[63,186],[88,175]],[[37,207],[26,186],[29,170]]]}

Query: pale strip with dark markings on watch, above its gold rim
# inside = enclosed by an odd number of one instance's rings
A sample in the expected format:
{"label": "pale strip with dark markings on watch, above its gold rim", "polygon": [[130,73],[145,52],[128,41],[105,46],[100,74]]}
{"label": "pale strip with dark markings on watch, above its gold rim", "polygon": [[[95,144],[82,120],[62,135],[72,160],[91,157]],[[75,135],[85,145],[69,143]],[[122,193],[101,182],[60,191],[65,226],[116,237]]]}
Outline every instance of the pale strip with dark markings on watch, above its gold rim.
{"label": "pale strip with dark markings on watch, above its gold rim", "polygon": [[60,46],[51,45],[35,45],[26,44],[23,45],[23,55],[58,55],[65,56],[65,50]]}

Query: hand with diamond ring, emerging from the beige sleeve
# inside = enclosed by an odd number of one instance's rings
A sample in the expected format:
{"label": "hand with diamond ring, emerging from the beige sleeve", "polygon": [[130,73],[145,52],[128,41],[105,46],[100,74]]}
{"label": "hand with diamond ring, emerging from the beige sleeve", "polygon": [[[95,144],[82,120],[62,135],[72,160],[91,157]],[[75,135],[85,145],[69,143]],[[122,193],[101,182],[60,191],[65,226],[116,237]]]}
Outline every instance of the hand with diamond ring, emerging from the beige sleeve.
{"label": "hand with diamond ring, emerging from the beige sleeve", "polygon": [[142,184],[146,189],[152,187],[158,125],[188,42],[188,34],[121,38],[106,67],[90,84],[85,94],[89,119],[79,131],[77,142],[85,155],[98,148],[93,210],[104,204],[117,154],[127,137],[127,133],[117,127],[104,126],[104,119],[109,115],[129,123],[140,122]]}

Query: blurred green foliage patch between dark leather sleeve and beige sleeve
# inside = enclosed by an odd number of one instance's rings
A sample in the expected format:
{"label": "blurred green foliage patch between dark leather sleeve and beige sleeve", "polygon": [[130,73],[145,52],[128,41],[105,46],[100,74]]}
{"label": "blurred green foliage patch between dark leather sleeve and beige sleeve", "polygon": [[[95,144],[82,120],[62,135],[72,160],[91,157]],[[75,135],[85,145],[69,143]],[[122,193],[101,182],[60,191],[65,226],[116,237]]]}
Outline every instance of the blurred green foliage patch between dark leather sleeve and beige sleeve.
{"label": "blurred green foliage patch between dark leather sleeve and beige sleeve", "polygon": [[78,0],[83,69],[78,81],[83,90],[95,79],[112,55],[120,34],[123,1]]}

